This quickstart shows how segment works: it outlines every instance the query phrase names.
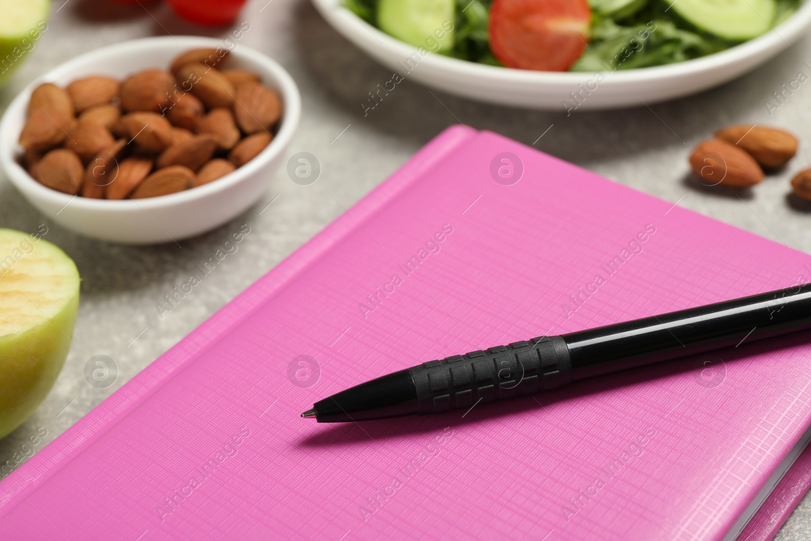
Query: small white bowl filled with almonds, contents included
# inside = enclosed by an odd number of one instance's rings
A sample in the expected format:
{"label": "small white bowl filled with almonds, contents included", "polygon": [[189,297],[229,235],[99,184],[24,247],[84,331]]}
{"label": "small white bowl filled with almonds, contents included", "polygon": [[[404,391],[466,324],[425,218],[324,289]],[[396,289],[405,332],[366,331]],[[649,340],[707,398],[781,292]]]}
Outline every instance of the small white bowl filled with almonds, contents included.
{"label": "small white bowl filled with almonds, contents included", "polygon": [[267,190],[301,99],[277,62],[229,43],[127,41],[45,74],[0,122],[7,178],[60,225],[115,243],[232,220]]}

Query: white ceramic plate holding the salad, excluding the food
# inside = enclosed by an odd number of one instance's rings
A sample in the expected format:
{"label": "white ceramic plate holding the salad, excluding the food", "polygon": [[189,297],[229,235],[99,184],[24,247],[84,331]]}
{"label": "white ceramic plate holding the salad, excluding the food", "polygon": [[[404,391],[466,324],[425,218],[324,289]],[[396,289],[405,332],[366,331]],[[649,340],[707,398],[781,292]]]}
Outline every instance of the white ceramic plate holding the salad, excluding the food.
{"label": "white ceramic plate holding the salad, excluding the food", "polygon": [[[585,86],[594,81],[593,73],[514,70],[440,54],[427,54],[419,59],[416,47],[367,24],[346,9],[341,0],[312,2],[337,32],[372,58],[404,75],[405,79],[414,79],[444,92],[500,105],[563,110],[562,102],[571,99],[569,92],[578,91],[579,84]],[[667,66],[606,73],[605,80],[596,85],[593,92],[581,94],[585,100],[578,109],[642,105],[643,101],[650,105],[701,92],[766,62],[805,36],[809,26],[811,2],[804,2],[792,17],[774,30],[732,49]],[[419,61],[406,75],[399,62],[414,58],[412,54],[417,54]],[[594,86],[594,82],[589,84],[589,88]]]}

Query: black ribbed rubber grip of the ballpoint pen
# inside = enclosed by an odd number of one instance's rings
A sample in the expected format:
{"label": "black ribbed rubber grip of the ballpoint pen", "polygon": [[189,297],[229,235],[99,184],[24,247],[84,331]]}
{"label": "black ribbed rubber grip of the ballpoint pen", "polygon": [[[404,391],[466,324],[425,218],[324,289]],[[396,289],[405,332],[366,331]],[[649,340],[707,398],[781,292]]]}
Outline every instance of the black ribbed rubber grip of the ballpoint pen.
{"label": "black ribbed rubber grip of the ballpoint pen", "polygon": [[409,368],[419,414],[555,389],[572,381],[562,337],[538,337]]}

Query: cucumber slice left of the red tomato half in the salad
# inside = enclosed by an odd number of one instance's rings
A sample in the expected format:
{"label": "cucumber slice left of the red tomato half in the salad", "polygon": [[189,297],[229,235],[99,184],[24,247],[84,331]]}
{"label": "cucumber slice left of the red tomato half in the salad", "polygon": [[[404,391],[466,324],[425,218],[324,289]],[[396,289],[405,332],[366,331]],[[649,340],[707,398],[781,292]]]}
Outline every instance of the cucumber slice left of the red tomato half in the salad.
{"label": "cucumber slice left of the red tomato half in the salad", "polygon": [[380,0],[377,26],[415,47],[447,54],[453,48],[456,0]]}

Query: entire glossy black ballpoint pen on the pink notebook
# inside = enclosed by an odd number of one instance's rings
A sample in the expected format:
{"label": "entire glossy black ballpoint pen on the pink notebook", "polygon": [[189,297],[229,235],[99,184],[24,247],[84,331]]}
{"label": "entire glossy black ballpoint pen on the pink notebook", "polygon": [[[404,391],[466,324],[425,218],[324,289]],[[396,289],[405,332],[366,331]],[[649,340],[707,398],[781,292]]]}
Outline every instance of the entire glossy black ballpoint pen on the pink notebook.
{"label": "entire glossy black ballpoint pen on the pink notebook", "polygon": [[470,408],[811,328],[811,284],[428,361],[317,401],[319,423]]}

